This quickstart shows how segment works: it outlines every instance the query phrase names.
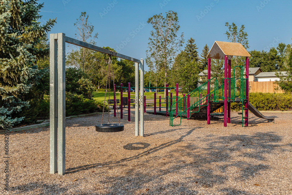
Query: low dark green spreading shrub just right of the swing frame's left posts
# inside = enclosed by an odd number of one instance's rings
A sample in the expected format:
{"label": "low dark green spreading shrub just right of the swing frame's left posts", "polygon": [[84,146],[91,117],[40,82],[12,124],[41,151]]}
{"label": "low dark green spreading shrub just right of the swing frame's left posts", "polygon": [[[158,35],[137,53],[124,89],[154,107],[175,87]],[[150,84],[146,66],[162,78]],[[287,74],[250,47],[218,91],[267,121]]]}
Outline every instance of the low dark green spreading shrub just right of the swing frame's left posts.
{"label": "low dark green spreading shrub just right of the swing frame's left posts", "polygon": [[[83,95],[66,92],[66,116],[100,112],[102,109],[103,104],[98,101],[86,99]],[[108,109],[106,105],[105,111],[108,111]]]}

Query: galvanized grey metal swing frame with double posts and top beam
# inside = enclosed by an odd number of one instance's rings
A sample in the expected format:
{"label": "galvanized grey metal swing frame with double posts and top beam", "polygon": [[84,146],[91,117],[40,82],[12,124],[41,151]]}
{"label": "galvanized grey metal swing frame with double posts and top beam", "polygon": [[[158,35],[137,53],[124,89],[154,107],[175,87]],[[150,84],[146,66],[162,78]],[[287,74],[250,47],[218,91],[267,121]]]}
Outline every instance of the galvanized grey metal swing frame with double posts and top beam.
{"label": "galvanized grey metal swing frame with double posts and top beam", "polygon": [[140,98],[140,136],[144,136],[144,60],[138,60],[102,47],[66,37],[64,33],[50,34],[50,174],[65,174],[65,55],[66,43],[98,51],[135,62],[135,136],[139,135]]}

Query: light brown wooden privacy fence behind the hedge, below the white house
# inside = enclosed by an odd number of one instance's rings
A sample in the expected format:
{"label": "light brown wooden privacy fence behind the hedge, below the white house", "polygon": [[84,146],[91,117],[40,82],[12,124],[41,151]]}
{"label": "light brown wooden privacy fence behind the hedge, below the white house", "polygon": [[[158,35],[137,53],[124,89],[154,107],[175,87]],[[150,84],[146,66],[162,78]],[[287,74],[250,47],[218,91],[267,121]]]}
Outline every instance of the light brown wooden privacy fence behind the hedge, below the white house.
{"label": "light brown wooden privacy fence behind the hedge, below the white house", "polygon": [[[278,84],[274,83],[274,81],[262,81],[262,82],[254,82],[250,81],[249,83],[249,92],[262,92],[262,93],[284,93],[284,90],[281,90]],[[279,87],[280,90],[275,90],[275,88]]]}

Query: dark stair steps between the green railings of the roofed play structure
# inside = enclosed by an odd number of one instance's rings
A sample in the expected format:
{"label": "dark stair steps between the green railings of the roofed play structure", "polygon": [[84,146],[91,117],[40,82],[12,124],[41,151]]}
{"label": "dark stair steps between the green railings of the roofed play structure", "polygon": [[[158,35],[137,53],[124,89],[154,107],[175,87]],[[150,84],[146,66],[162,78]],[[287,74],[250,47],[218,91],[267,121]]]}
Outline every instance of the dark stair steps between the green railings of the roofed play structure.
{"label": "dark stair steps between the green railings of the roofed play structure", "polygon": [[[213,113],[217,109],[221,108],[224,103],[221,102],[212,102],[210,101],[210,113]],[[191,118],[207,118],[207,105],[208,103],[204,103],[202,105],[199,105],[195,108],[193,108],[190,112]]]}

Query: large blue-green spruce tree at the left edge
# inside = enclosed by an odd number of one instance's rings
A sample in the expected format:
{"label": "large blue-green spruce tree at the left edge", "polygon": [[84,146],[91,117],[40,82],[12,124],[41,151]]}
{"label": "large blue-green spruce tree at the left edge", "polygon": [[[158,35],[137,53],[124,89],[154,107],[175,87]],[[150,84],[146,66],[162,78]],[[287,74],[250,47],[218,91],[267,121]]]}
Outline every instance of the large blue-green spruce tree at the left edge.
{"label": "large blue-green spruce tree at the left edge", "polygon": [[22,96],[48,70],[38,70],[36,61],[47,55],[49,48],[35,46],[55,23],[37,22],[43,4],[34,0],[2,0],[0,3],[0,127],[9,130],[25,118],[14,117],[29,106]]}

